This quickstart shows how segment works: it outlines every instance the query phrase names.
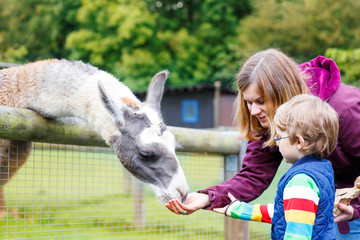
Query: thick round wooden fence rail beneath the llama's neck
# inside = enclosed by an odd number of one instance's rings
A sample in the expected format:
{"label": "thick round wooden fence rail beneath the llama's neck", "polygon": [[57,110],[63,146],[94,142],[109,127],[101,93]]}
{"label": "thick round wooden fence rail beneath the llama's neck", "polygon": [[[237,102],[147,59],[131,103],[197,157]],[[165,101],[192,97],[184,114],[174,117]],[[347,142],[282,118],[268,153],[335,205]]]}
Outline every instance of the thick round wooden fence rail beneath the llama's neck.
{"label": "thick round wooden fence rail beneath the llama's neck", "polygon": [[[169,127],[183,152],[237,154],[240,141],[236,132],[217,132]],[[41,141],[83,146],[107,146],[86,123],[73,118],[45,119],[38,113],[21,108],[0,106],[0,136],[21,141]]]}

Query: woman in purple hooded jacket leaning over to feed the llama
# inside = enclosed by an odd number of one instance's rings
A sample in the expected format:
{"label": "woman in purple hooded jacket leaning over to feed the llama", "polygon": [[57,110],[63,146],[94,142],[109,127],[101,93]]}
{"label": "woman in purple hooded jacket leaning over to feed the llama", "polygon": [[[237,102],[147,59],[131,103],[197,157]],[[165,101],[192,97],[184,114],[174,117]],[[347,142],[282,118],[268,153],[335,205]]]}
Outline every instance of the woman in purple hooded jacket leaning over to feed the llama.
{"label": "woman in purple hooded jacket leaning over to feed the llama", "polygon": [[[360,176],[360,90],[341,83],[340,71],[329,58],[318,56],[297,65],[277,49],[251,56],[237,75],[236,118],[240,138],[248,145],[242,169],[231,179],[188,195],[183,204],[171,200],[166,207],[176,214],[191,214],[228,205],[231,192],[250,202],[266,190],[282,161],[271,131],[276,109],[295,95],[311,93],[332,106],[339,116],[339,136],[330,160],[335,188],[352,187]],[[309,109],[310,110],[310,109]],[[360,197],[350,206],[340,204],[335,218],[337,239],[360,239]]]}

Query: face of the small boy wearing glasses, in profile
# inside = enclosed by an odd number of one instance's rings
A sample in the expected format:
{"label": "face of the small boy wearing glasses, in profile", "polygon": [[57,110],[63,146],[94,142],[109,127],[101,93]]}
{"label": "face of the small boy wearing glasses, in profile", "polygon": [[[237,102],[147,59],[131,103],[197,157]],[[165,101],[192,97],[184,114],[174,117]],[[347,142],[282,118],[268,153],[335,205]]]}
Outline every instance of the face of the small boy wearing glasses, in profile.
{"label": "face of the small boy wearing glasses, in profile", "polygon": [[289,135],[286,132],[279,131],[278,129],[276,132],[277,138],[281,138],[277,141],[281,155],[284,157],[285,162],[294,164],[302,157],[296,141],[291,144]]}

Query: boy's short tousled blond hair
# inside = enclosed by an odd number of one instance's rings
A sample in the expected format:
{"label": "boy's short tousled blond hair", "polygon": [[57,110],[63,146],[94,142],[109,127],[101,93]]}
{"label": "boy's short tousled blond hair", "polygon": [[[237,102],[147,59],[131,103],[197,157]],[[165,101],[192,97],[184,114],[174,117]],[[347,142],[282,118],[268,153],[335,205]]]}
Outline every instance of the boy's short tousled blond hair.
{"label": "boy's short tousled blond hair", "polygon": [[[274,117],[275,127],[286,132],[290,143],[296,135],[308,139],[303,150],[325,158],[335,149],[339,120],[335,110],[318,97],[300,94],[281,105]],[[272,129],[275,132],[275,129]]]}

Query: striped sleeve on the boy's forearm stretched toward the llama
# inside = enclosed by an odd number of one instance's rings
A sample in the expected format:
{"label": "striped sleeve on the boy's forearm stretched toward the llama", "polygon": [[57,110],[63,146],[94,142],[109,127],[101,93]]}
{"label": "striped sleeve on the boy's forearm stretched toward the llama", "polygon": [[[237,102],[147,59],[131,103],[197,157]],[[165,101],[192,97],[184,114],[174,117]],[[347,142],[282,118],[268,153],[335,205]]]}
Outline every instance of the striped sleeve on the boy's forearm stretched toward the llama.
{"label": "striped sleeve on the boy's forearm stretched toward the llama", "polygon": [[240,202],[239,200],[236,200],[229,205],[225,214],[233,218],[247,221],[271,223],[273,213],[274,204],[252,205],[246,202]]}

